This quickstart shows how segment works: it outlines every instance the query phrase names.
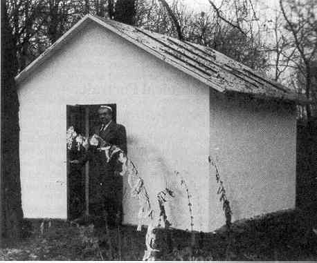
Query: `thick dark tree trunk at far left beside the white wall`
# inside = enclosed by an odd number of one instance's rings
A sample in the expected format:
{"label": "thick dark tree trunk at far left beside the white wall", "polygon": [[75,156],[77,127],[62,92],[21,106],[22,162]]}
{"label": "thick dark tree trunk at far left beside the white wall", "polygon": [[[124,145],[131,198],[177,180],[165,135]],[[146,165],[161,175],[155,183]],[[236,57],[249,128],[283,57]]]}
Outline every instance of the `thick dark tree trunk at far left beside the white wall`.
{"label": "thick dark tree trunk at far left beside the white wall", "polygon": [[19,99],[15,85],[17,52],[6,5],[1,1],[1,231],[19,238],[23,212],[19,167]]}

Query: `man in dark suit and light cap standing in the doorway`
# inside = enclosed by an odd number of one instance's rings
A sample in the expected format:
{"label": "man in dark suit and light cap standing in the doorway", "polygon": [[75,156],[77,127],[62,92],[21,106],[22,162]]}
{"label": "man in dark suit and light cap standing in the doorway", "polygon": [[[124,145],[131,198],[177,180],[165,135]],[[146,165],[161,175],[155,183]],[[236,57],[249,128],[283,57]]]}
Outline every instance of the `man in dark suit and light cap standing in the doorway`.
{"label": "man in dark suit and light cap standing in the doorway", "polygon": [[[127,153],[125,126],[116,124],[112,113],[111,107],[100,106],[100,125],[93,128],[93,133],[107,144],[116,145]],[[123,177],[114,173],[116,159],[107,162],[105,151],[99,147],[90,145],[83,157],[72,163],[83,165],[89,160],[89,214],[101,215],[107,212],[108,224],[115,226],[122,222]]]}

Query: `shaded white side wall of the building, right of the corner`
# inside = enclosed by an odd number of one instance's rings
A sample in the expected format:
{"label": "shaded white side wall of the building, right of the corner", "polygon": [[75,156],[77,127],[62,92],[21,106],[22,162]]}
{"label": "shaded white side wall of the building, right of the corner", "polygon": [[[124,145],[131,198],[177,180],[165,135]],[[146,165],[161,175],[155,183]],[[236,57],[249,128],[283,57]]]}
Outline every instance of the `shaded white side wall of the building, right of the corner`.
{"label": "shaded white side wall of the building, right of the corner", "polygon": [[[295,207],[296,111],[273,101],[210,92],[210,157],[217,159],[233,221]],[[209,227],[224,224],[210,167]]]}

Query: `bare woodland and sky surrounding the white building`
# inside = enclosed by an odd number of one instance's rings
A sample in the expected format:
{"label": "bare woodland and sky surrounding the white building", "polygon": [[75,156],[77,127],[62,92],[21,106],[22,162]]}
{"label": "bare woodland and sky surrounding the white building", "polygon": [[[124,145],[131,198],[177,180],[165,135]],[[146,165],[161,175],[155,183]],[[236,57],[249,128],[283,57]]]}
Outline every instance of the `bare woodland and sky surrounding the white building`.
{"label": "bare woodland and sky surrounding the white building", "polygon": [[298,106],[298,206],[316,204],[317,3],[279,0],[270,15],[255,0],[1,1],[1,237],[21,236],[19,101],[14,77],[85,14],[208,46],[303,93]]}

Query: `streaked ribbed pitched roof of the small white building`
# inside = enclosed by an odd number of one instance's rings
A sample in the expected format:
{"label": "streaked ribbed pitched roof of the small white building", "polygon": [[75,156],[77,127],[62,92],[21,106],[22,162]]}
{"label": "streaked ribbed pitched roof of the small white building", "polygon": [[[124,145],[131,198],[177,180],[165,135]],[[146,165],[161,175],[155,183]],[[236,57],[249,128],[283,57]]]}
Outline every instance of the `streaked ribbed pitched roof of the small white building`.
{"label": "streaked ribbed pitched roof of the small white building", "polygon": [[[88,14],[78,23],[89,18],[219,92],[239,92],[255,97],[283,99],[300,103],[307,101],[303,95],[298,95],[293,90],[206,46],[180,41],[91,14]],[[21,73],[19,75],[23,75]],[[17,79],[19,79],[19,75]]]}

